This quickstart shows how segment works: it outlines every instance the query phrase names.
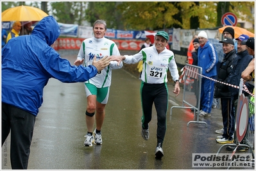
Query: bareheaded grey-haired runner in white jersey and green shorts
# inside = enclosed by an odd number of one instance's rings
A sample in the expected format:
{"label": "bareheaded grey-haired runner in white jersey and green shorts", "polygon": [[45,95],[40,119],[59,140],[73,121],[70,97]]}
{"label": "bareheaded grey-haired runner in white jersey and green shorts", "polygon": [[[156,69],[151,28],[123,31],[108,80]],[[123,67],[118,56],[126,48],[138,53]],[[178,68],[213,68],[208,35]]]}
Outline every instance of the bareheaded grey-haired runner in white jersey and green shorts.
{"label": "bareheaded grey-haired runner in white jersey and green shorts", "polygon": [[[96,20],[92,27],[94,37],[83,40],[80,51],[74,65],[81,65],[85,61],[85,66],[92,63],[92,57],[103,58],[108,55],[120,55],[117,45],[112,40],[105,38],[107,24],[105,20]],[[85,82],[85,92],[87,95],[87,109],[85,111],[85,120],[87,126],[87,134],[83,145],[92,147],[94,144],[102,144],[101,127],[105,118],[105,107],[108,102],[108,95],[111,85],[112,69],[120,69],[123,67],[117,65],[117,61],[111,61],[110,65],[98,72],[98,74]],[[94,116],[96,111],[96,115]],[[96,128],[94,120],[96,119]]]}

